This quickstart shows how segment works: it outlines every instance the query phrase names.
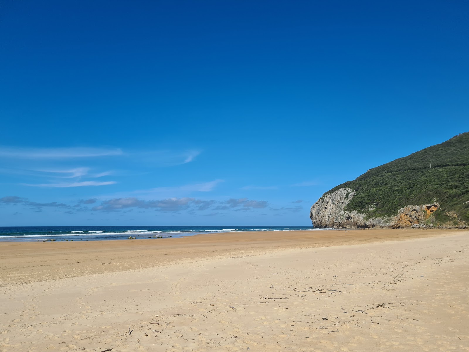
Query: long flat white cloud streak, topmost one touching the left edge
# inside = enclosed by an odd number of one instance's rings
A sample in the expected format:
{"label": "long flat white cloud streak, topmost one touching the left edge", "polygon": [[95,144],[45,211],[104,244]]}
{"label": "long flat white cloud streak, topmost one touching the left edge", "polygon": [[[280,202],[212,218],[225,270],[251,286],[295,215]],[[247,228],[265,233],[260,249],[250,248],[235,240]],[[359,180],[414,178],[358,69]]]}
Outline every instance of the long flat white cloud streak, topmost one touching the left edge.
{"label": "long flat white cloud streak, topmost one touching the left edge", "polygon": [[19,159],[68,159],[122,155],[121,149],[104,148],[12,148],[0,147],[0,157]]}

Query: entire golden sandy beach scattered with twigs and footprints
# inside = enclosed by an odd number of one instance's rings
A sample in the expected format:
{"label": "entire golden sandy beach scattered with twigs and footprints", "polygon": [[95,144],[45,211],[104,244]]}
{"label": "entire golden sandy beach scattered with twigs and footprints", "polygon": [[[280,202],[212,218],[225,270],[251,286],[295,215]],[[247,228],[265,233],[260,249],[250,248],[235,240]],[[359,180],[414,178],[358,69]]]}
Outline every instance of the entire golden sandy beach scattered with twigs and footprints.
{"label": "entire golden sandy beach scattered with twigs and footprints", "polygon": [[0,351],[468,351],[468,253],[467,230],[0,243]]}

